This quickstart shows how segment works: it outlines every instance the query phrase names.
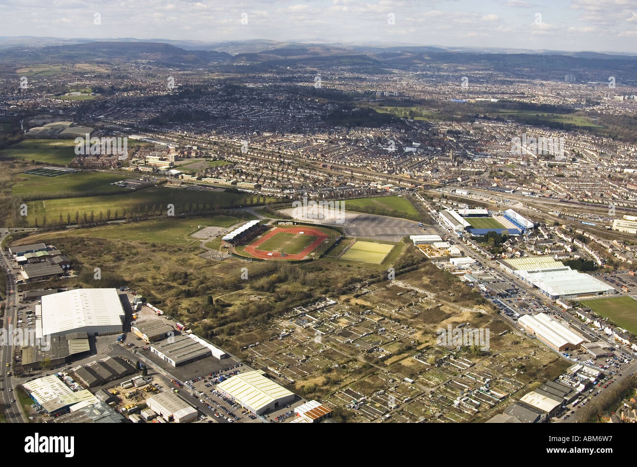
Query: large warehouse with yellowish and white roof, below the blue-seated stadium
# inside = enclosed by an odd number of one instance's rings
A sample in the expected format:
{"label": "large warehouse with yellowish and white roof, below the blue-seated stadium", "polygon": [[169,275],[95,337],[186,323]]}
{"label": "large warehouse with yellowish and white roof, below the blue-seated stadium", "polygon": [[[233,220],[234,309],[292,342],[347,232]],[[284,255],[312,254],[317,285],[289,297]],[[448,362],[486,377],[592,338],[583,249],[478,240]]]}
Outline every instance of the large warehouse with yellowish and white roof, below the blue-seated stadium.
{"label": "large warehouse with yellowish and white roof, below the blue-seated stadium", "polygon": [[499,259],[505,269],[528,284],[537,287],[553,300],[578,298],[591,295],[612,295],[617,291],[609,284],[588,274],[564,266],[548,256],[531,256],[518,259]]}

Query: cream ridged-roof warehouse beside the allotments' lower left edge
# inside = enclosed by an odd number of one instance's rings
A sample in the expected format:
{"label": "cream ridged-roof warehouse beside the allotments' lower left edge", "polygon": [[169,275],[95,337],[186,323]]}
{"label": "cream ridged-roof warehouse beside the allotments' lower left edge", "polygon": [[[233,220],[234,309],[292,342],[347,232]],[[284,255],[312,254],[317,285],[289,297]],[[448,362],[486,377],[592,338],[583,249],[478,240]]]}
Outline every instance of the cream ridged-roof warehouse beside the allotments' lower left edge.
{"label": "cream ridged-roof warehouse beside the allotments' lower left edge", "polygon": [[240,373],[217,385],[217,390],[256,415],[294,401],[294,393],[264,376],[261,370]]}

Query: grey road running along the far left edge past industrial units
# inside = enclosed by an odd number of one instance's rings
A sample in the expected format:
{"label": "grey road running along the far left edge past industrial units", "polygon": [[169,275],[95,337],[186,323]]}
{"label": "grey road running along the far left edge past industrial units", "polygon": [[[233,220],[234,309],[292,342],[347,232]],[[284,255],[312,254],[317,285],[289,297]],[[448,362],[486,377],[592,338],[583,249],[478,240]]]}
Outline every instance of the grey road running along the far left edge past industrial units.
{"label": "grey road running along the far left edge past industrial units", "polygon": [[[6,234],[6,231],[3,229],[3,236]],[[8,255],[8,252],[6,252]],[[0,256],[2,257],[2,266],[5,270],[10,269],[10,262],[5,257],[5,252],[3,251]],[[18,308],[18,288],[15,285],[15,275],[13,272],[7,273],[6,279],[6,298],[4,300],[4,318],[3,318],[3,327],[7,329],[6,336],[8,342],[2,343],[2,351],[0,352],[0,367],[2,368],[4,378],[4,382],[1,384],[3,388],[0,391],[1,400],[3,406],[6,408],[4,410],[6,421],[9,423],[20,423],[26,422],[24,415],[22,414],[22,410],[19,407],[19,400],[17,399],[17,394],[14,391],[9,391],[9,389],[13,389],[13,378],[5,376],[6,371],[11,370],[6,366],[7,363],[11,364],[11,353],[13,351],[13,336],[8,333],[8,327],[11,322],[15,322],[15,313]],[[13,374],[13,373],[11,373]],[[15,399],[16,402],[11,402],[11,399]]]}

